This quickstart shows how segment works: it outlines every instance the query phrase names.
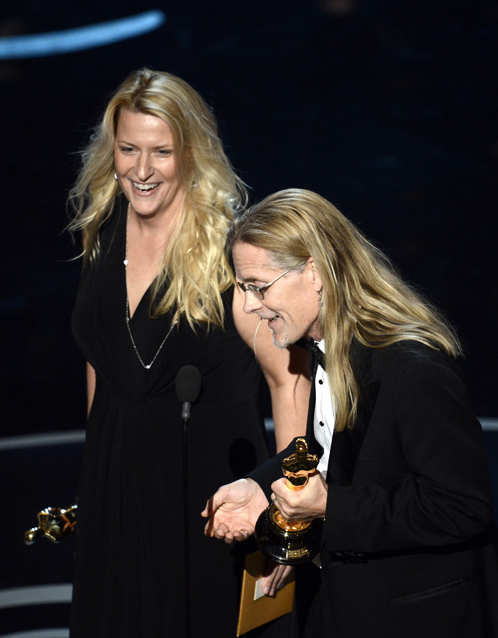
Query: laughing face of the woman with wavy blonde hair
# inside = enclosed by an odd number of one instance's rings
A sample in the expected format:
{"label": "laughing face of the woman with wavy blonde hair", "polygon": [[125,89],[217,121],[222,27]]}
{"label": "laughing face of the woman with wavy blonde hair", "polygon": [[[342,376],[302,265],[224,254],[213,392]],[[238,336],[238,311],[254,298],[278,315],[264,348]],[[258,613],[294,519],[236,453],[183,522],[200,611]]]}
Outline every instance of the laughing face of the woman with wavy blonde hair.
{"label": "laughing face of the woman with wavy blonde hair", "polygon": [[160,117],[121,109],[114,166],[124,195],[140,216],[152,217],[181,202],[173,134]]}

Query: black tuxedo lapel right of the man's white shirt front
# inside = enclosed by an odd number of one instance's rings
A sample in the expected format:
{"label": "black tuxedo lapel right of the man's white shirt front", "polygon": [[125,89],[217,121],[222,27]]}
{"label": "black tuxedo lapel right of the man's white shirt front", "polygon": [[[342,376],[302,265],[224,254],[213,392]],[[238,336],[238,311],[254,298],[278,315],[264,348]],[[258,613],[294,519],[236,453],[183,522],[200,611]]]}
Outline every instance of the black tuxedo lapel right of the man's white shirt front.
{"label": "black tuxedo lapel right of the man's white shirt front", "polygon": [[[379,380],[370,379],[371,357],[372,349],[361,346],[354,339],[351,344],[351,364],[359,388],[358,411],[352,429],[345,427],[342,432],[334,432],[332,437],[327,471],[327,482],[330,485],[346,487],[352,483],[359,450],[363,438],[365,438],[372,410],[374,410],[379,385],[381,385]],[[313,419],[311,423],[313,428]],[[309,427],[310,415],[308,413],[308,429]]]}

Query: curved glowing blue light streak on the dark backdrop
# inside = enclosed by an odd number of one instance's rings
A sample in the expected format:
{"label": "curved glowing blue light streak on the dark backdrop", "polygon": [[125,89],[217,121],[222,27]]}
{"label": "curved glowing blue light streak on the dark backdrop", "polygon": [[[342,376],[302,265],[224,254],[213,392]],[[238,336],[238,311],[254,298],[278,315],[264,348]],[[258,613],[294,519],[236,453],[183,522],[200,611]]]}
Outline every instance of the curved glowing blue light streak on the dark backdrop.
{"label": "curved glowing blue light streak on the dark backdrop", "polygon": [[87,48],[103,47],[154,31],[165,20],[166,16],[162,11],[152,10],[128,18],[66,31],[3,36],[0,37],[0,59],[19,60],[26,57],[57,56]]}

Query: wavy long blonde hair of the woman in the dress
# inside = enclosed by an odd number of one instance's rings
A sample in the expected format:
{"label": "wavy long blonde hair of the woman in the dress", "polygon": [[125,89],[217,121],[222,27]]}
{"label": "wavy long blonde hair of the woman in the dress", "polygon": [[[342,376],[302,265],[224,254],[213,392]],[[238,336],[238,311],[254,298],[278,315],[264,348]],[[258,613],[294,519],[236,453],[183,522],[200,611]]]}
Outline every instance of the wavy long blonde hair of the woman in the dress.
{"label": "wavy long blonde hair of the woman in the dress", "polygon": [[75,213],[69,228],[83,231],[84,260],[94,262],[100,230],[121,193],[114,179],[114,143],[122,108],[156,115],[169,124],[179,184],[185,192],[153,286],[153,316],[174,309],[174,320],[185,315],[192,327],[202,322],[221,327],[221,295],[234,281],[225,255],[225,232],[234,212],[245,206],[247,194],[223,152],[214,115],[181,78],[144,68],[114,93],[81,153],[82,169],[69,197]]}

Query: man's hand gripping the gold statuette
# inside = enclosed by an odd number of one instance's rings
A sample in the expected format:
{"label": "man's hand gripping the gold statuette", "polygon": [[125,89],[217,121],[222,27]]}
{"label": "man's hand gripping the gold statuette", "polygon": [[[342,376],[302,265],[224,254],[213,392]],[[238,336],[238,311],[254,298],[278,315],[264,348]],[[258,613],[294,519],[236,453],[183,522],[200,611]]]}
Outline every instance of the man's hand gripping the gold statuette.
{"label": "man's hand gripping the gold statuette", "polygon": [[286,521],[310,521],[325,516],[328,485],[319,471],[310,474],[303,489],[289,489],[285,479],[276,480],[271,489],[271,499]]}

